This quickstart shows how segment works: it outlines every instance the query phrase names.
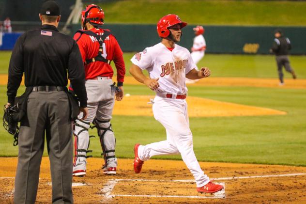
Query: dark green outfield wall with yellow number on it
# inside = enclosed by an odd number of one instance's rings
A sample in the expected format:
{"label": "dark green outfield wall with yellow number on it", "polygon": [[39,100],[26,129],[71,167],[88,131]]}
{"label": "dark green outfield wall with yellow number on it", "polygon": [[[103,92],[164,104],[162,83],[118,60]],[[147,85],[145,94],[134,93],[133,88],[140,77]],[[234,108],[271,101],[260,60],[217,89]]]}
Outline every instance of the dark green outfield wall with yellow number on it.
{"label": "dark green outfield wall with yellow number on it", "polygon": [[[291,54],[306,54],[306,27],[205,26],[207,53],[269,54],[274,31],[280,28],[290,39]],[[190,49],[194,25],[183,29],[179,45]],[[79,25],[73,26],[76,31]],[[160,42],[155,25],[106,24],[116,36],[123,51],[141,51]]]}

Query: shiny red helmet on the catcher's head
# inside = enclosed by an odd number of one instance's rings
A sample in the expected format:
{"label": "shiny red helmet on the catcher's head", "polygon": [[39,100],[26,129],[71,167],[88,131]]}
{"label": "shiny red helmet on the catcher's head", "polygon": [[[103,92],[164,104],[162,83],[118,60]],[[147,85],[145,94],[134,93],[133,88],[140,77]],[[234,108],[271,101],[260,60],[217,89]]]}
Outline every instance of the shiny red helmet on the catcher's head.
{"label": "shiny red helmet on the catcher's head", "polygon": [[99,26],[104,24],[104,12],[103,10],[95,5],[91,4],[86,6],[81,13],[81,24],[82,29],[85,30],[85,24],[90,22],[93,26]]}

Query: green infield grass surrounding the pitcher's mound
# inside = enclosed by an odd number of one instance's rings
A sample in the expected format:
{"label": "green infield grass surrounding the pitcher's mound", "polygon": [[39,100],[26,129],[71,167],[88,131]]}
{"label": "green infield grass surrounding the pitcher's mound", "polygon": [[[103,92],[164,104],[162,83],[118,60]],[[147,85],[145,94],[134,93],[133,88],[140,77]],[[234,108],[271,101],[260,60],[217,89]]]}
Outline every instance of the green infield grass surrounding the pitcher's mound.
{"label": "green infield grass surrounding the pitcher's mound", "polygon": [[[125,93],[152,94],[144,86],[126,85]],[[6,87],[0,86],[5,94]],[[250,87],[190,87],[189,95],[272,108],[281,116],[190,118],[194,150],[200,161],[222,161],[306,166],[306,91]],[[0,99],[4,104],[5,97]],[[3,111],[0,112],[3,114]],[[136,142],[147,144],[166,139],[165,129],[153,117],[114,116],[116,154],[133,157]],[[91,131],[96,135],[95,131]],[[0,156],[16,156],[13,138],[0,128]],[[91,141],[94,157],[100,157],[97,138]],[[46,155],[46,153],[45,153]],[[179,155],[155,157],[180,159]]]}

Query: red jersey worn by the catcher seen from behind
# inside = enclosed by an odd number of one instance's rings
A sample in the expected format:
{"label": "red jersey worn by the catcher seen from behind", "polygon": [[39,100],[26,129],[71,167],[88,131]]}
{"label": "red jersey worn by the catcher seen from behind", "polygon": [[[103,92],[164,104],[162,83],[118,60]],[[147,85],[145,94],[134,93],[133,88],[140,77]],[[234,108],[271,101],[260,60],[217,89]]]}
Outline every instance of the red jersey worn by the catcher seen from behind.
{"label": "red jersey worn by the catcher seen from behind", "polygon": [[[98,35],[101,35],[101,33],[104,33],[103,29],[93,28],[90,31]],[[96,57],[99,52],[100,44],[94,36],[77,32],[74,36],[74,39],[77,42],[77,45],[81,52],[82,60],[84,62],[86,80],[95,78],[98,76],[113,77],[114,71],[108,63],[96,61],[93,63],[85,64],[86,60]],[[106,58],[107,60],[114,61],[116,69],[117,69],[118,84],[120,85],[121,83],[123,83],[124,75],[125,75],[123,52],[115,36],[113,36],[112,34],[108,35],[106,39],[104,40],[102,56]]]}

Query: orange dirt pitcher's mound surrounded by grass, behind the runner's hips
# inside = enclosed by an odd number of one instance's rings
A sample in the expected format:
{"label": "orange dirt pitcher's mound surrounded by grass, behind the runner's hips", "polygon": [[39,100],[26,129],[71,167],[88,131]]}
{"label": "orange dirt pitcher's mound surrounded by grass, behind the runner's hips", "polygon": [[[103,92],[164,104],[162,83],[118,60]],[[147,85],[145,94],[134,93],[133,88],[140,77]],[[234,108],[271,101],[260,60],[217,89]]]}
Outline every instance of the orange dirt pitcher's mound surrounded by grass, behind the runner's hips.
{"label": "orange dirt pitcher's mound surrounded by grass, behind the runner's hips", "polygon": [[[113,115],[153,116],[150,99],[153,95],[131,95],[122,101],[116,101]],[[286,115],[287,112],[246,106],[236,103],[216,101],[207,98],[188,96],[189,117],[224,117],[224,116],[254,116],[254,115]],[[149,104],[148,104],[149,103]]]}

